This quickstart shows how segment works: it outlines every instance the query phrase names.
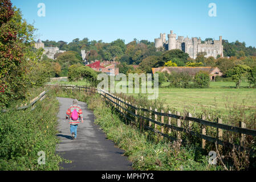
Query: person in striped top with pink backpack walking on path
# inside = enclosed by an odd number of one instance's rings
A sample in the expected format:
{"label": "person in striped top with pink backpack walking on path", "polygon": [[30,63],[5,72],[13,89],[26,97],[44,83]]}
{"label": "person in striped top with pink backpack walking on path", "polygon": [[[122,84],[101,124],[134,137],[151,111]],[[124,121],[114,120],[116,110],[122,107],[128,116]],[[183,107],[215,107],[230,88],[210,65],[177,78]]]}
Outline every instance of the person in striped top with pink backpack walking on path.
{"label": "person in striped top with pink backpack walking on path", "polygon": [[83,113],[81,107],[78,105],[78,100],[73,101],[73,105],[71,105],[66,112],[66,119],[70,119],[70,133],[72,135],[72,139],[76,139],[78,124],[80,122],[84,122]]}

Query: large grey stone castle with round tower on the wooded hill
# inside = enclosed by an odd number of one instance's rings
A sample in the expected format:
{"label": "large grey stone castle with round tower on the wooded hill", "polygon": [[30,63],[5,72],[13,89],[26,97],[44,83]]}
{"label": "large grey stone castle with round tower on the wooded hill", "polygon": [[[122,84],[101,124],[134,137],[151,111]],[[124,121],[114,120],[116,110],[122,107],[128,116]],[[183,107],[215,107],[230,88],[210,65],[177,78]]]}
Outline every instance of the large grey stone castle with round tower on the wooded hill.
{"label": "large grey stone castle with round tower on the wooded hill", "polygon": [[223,57],[222,36],[219,40],[208,40],[202,43],[201,38],[189,39],[188,36],[178,36],[170,31],[168,34],[168,40],[165,40],[166,34],[160,34],[160,38],[155,39],[156,48],[164,48],[166,50],[180,49],[181,51],[188,53],[189,57],[196,59],[197,53],[206,52],[205,57],[213,56],[215,59],[218,55]]}

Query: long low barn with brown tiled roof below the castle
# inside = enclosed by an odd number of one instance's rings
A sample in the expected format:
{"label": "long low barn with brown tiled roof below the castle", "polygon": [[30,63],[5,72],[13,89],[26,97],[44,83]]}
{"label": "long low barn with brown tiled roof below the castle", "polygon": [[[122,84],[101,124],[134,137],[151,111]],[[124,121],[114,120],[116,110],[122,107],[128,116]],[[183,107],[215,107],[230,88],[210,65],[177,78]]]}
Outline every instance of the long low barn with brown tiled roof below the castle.
{"label": "long low barn with brown tiled roof below the castle", "polygon": [[159,67],[152,68],[152,73],[156,72],[177,72],[177,73],[188,73],[190,76],[195,76],[197,72],[205,71],[210,75],[210,80],[215,81],[216,76],[222,76],[223,73],[218,67]]}

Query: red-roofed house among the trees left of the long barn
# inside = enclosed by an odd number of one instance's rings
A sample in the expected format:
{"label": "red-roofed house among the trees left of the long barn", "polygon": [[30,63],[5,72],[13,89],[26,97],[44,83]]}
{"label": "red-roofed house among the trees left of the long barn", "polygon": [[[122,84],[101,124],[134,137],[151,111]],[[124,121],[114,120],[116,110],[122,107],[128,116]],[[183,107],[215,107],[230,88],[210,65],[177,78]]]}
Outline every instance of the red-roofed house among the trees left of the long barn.
{"label": "red-roofed house among the trees left of the long barn", "polygon": [[100,63],[100,60],[95,60],[94,63],[87,64],[87,67],[94,69],[97,72],[106,73],[107,75],[118,75],[119,68],[116,68],[116,64],[110,64],[107,67],[104,67],[104,64]]}

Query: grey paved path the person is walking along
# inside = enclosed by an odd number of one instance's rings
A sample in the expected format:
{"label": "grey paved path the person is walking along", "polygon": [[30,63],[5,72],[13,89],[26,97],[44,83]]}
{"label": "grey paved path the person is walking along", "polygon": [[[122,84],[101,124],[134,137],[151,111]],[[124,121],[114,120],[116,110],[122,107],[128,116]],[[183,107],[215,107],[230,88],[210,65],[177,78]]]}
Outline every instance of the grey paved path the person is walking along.
{"label": "grey paved path the person is walking along", "polygon": [[90,171],[130,171],[131,162],[124,151],[115,147],[115,144],[108,140],[100,127],[94,123],[94,114],[88,109],[85,102],[79,102],[82,107],[84,123],[78,125],[76,140],[72,140],[70,125],[66,119],[66,110],[72,105],[71,98],[59,98],[59,126],[57,135],[60,143],[56,151],[64,159],[72,160],[72,163],[62,163],[62,170],[90,170]]}

